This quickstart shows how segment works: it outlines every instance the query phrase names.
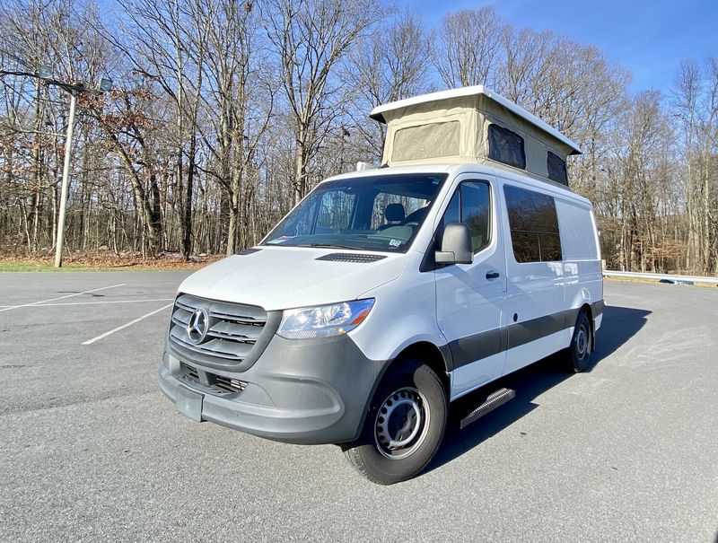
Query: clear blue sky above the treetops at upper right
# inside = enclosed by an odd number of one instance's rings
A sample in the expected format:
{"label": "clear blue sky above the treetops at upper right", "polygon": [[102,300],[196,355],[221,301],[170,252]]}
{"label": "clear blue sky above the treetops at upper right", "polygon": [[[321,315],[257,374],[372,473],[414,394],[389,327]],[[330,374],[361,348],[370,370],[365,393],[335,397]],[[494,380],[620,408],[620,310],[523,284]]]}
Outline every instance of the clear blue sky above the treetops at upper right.
{"label": "clear blue sky above the treetops at upper right", "polygon": [[505,22],[595,45],[633,75],[630,89],[669,92],[684,58],[718,56],[718,0],[413,0],[426,27],[446,13],[494,5]]}

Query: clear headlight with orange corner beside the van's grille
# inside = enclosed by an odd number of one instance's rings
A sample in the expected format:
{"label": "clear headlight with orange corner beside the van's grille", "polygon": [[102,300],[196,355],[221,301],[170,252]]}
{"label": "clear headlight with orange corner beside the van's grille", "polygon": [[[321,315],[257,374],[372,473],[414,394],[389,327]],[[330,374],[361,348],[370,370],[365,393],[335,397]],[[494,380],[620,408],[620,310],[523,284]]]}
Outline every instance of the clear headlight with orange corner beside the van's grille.
{"label": "clear headlight with orange corner beside the van's grille", "polygon": [[341,336],[362,324],[373,305],[371,298],[285,310],[276,333],[287,339]]}

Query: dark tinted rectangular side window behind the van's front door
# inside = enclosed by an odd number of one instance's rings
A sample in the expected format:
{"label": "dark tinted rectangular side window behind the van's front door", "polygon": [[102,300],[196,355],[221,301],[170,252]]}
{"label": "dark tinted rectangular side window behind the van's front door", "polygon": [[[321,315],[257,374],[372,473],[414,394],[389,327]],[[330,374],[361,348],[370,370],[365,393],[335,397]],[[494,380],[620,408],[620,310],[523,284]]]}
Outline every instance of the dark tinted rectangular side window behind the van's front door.
{"label": "dark tinted rectangular side window behind the van's front door", "polygon": [[517,262],[561,260],[556,202],[553,197],[505,185],[513,257]]}

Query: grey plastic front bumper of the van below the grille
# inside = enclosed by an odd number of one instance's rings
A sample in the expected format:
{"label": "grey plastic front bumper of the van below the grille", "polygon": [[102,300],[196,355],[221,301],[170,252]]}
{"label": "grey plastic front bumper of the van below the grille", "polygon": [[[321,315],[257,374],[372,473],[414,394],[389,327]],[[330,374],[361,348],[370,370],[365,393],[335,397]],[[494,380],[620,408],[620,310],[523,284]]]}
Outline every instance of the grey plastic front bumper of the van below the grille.
{"label": "grey plastic front bumper of the van below the grille", "polygon": [[[182,363],[241,380],[236,394],[216,394],[186,377]],[[165,346],[159,383],[177,403],[178,390],[202,395],[201,420],[268,439],[301,444],[354,441],[376,383],[387,366],[366,358],[351,337],[289,340],[274,336],[248,370],[232,372],[185,361]],[[204,382],[207,382],[204,379]]]}

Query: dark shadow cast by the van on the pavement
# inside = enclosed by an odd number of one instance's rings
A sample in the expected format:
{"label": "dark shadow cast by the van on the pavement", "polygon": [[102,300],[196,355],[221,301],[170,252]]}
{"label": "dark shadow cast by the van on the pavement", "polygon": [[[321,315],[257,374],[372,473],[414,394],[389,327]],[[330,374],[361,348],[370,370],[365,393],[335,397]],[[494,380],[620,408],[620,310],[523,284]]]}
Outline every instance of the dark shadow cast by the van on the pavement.
{"label": "dark shadow cast by the van on the pavement", "polygon": [[[651,311],[607,305],[597,335],[591,369],[635,336],[644,327],[649,314]],[[538,404],[533,401],[535,398],[574,375],[573,372],[566,372],[562,363],[560,355],[548,356],[452,402],[442,446],[427,471],[459,458],[537,408]],[[483,403],[488,394],[503,387],[515,390],[516,398],[460,430],[461,418]]]}

